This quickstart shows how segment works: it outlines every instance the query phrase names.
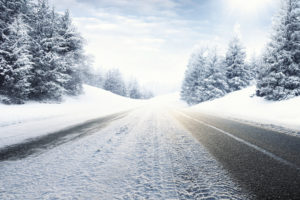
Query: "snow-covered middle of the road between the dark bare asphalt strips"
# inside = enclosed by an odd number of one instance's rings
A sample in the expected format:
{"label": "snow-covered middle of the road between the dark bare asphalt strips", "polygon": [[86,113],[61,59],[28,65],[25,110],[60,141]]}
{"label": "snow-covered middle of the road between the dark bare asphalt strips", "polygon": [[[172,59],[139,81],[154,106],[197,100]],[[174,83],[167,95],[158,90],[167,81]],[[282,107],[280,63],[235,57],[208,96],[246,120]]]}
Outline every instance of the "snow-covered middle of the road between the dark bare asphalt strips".
{"label": "snow-covered middle of the road between the dark bare asphalt strips", "polygon": [[85,137],[0,162],[0,199],[247,199],[166,109],[147,106]]}

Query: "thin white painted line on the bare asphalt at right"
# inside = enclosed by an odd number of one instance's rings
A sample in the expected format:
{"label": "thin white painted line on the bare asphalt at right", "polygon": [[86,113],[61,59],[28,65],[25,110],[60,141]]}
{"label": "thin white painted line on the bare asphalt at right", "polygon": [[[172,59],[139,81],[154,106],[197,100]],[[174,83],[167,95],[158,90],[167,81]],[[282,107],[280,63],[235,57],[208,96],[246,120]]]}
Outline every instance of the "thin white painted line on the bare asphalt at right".
{"label": "thin white painted line on the bare asphalt at right", "polygon": [[221,133],[227,135],[228,137],[230,137],[230,138],[232,138],[232,139],[234,139],[234,140],[236,140],[236,141],[238,141],[238,142],[241,142],[241,143],[243,143],[243,144],[245,144],[245,145],[247,145],[247,146],[249,146],[249,147],[252,147],[252,148],[254,148],[255,150],[257,150],[257,151],[259,151],[259,152],[261,152],[261,153],[263,153],[263,154],[265,154],[265,155],[267,155],[267,156],[273,158],[274,160],[277,160],[277,161],[279,161],[279,162],[281,162],[281,163],[283,163],[283,164],[285,164],[285,165],[288,165],[288,166],[290,166],[290,167],[292,167],[292,168],[295,168],[295,169],[297,169],[298,171],[300,171],[300,167],[298,167],[298,166],[295,165],[294,163],[291,163],[291,162],[289,162],[289,161],[287,161],[287,160],[285,160],[285,159],[283,159],[283,158],[280,158],[279,156],[276,156],[275,154],[273,154],[273,153],[271,153],[271,152],[269,152],[269,151],[267,151],[267,150],[265,150],[265,149],[263,149],[263,148],[261,148],[261,147],[259,147],[259,146],[256,146],[255,144],[252,144],[252,143],[250,143],[250,142],[247,142],[246,140],[243,140],[243,139],[241,139],[241,138],[239,138],[239,137],[236,137],[236,136],[232,135],[231,133],[228,133],[228,132],[226,132],[226,131],[224,131],[224,130],[222,130],[222,129],[219,129],[219,128],[215,127],[215,126],[212,126],[212,125],[210,125],[210,124],[208,124],[208,123],[206,123],[206,122],[197,120],[197,119],[195,119],[195,118],[193,118],[193,117],[191,117],[191,116],[189,116],[189,115],[184,114],[183,112],[180,112],[180,111],[175,111],[175,112],[181,114],[182,116],[184,116],[184,117],[186,117],[186,118],[188,118],[188,119],[191,119],[191,120],[193,120],[193,121],[195,121],[195,122],[198,122],[198,123],[200,123],[200,124],[202,124],[202,125],[205,125],[205,126],[207,126],[207,127],[209,127],[209,128],[212,128],[212,129],[214,129],[214,130],[217,130],[217,131],[219,131],[219,132],[221,132]]}

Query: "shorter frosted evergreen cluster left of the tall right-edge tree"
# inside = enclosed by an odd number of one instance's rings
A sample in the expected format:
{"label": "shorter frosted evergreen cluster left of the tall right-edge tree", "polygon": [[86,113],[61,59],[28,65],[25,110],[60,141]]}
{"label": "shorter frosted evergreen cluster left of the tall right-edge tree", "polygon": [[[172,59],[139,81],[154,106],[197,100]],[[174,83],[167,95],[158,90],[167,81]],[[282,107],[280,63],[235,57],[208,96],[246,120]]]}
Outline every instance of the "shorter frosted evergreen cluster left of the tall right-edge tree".
{"label": "shorter frosted evergreen cluster left of the tall right-edge tree", "polygon": [[225,56],[217,48],[205,47],[192,54],[181,88],[181,98],[189,105],[212,100],[250,84],[256,77],[256,61],[247,63],[238,37],[229,43]]}

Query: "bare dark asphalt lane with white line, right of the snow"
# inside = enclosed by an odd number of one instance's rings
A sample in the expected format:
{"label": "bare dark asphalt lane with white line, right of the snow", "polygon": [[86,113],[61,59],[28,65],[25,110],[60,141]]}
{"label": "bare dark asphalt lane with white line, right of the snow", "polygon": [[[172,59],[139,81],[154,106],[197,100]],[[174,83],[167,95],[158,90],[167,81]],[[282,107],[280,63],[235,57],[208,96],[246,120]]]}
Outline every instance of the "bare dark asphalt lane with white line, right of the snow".
{"label": "bare dark asphalt lane with white line, right of the snow", "polygon": [[173,115],[255,199],[300,199],[300,137],[203,113]]}

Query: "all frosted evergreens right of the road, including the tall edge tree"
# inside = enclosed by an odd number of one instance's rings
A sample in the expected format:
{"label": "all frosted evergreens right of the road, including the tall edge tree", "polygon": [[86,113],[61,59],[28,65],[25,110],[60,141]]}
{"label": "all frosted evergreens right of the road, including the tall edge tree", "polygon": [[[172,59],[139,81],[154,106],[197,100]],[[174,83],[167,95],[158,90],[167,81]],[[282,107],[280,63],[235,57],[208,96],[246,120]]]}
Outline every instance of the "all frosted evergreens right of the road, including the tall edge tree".
{"label": "all frosted evergreens right of the road, including the tall edge tree", "polygon": [[245,48],[234,37],[225,56],[216,48],[192,54],[181,88],[189,105],[212,100],[256,83],[256,95],[267,100],[300,96],[300,2],[282,1],[263,55],[246,62]]}

